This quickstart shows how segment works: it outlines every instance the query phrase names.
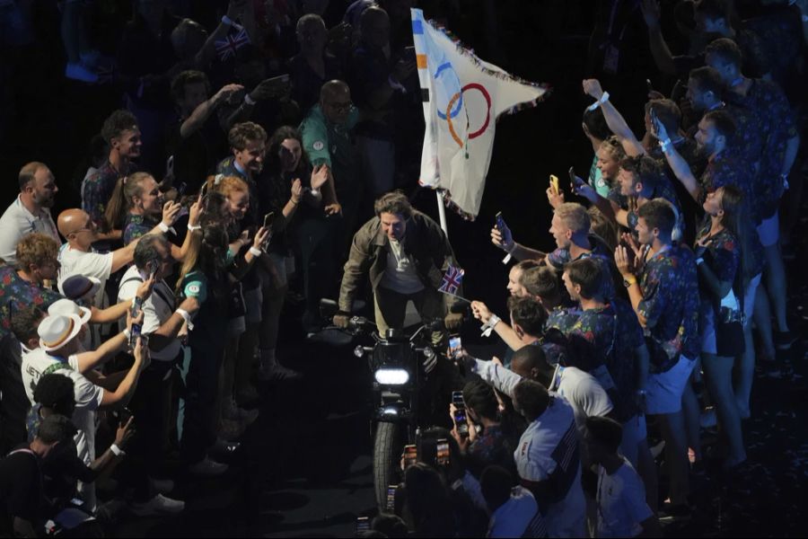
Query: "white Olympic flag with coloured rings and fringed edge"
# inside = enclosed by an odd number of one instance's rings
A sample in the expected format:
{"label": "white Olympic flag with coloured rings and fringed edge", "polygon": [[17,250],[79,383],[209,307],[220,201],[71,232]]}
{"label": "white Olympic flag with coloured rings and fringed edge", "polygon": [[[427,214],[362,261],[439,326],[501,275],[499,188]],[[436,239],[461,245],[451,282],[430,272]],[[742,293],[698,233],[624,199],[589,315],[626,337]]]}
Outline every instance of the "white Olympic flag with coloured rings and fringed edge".
{"label": "white Olympic flag with coloured rings and fringed edge", "polygon": [[426,133],[421,154],[421,185],[442,190],[451,208],[474,219],[485,187],[500,114],[535,104],[547,93],[488,64],[412,13],[418,80]]}

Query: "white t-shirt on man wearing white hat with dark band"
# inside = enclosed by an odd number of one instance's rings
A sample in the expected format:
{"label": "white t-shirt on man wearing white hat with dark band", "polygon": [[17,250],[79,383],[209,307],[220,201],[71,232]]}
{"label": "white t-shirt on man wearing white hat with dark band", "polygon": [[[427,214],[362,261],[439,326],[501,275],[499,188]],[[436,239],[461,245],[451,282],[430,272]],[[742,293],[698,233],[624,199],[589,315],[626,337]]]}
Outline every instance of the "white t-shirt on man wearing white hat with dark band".
{"label": "white t-shirt on man wearing white hat with dark band", "polygon": [[57,364],[63,364],[66,368],[51,372],[56,372],[73,380],[73,393],[75,395],[73,423],[78,429],[74,438],[75,446],[78,450],[79,458],[84,461],[84,464],[89,465],[95,460],[95,411],[101,406],[104,390],[102,387],[93,384],[78,371],[78,358],[71,356],[67,358],[65,363],[61,358],[49,355],[44,349],[34,349],[30,352],[23,350],[22,383],[25,384],[25,394],[28,395],[28,400],[33,405],[34,387],[40,381],[40,377],[48,372],[48,367]]}

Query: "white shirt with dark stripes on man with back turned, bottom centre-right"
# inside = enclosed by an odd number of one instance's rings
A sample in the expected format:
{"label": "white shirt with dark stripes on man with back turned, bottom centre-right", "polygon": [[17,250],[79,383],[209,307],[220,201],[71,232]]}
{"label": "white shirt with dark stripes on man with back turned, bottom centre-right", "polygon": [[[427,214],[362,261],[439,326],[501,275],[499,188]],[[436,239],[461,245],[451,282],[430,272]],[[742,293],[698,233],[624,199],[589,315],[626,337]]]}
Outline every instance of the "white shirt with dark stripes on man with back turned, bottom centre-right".
{"label": "white shirt with dark stripes on man with back turned, bottom centre-right", "polygon": [[584,536],[586,501],[581,488],[580,457],[575,452],[577,444],[572,406],[563,398],[555,397],[547,410],[525,429],[514,451],[516,471],[524,481],[548,480],[550,474],[556,472],[558,463],[566,465],[566,471],[558,473],[574,474],[566,496],[550,504],[544,515],[550,537]]}

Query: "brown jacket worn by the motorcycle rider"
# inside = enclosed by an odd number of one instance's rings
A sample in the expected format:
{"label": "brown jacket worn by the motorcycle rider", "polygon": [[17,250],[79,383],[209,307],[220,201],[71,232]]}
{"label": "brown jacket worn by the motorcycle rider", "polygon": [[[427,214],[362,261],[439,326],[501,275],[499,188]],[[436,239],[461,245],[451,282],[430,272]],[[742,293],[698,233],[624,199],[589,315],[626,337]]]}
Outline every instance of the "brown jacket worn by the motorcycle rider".
{"label": "brown jacket worn by the motorcycle rider", "polygon": [[[412,256],[415,261],[418,277],[425,287],[435,288],[441,286],[444,274],[449,264],[457,265],[452,252],[449,239],[429,216],[413,210],[407,221],[407,229],[402,245],[404,252]],[[387,270],[387,256],[390,253],[390,240],[382,232],[382,221],[373,217],[362,225],[351,244],[351,252],[345,264],[345,274],[342,277],[342,287],[339,288],[339,310],[351,312],[356,290],[359,288],[365,274],[370,277],[373,293],[382,282],[384,271]],[[458,295],[462,294],[462,288]],[[456,303],[450,295],[444,295],[447,308]]]}

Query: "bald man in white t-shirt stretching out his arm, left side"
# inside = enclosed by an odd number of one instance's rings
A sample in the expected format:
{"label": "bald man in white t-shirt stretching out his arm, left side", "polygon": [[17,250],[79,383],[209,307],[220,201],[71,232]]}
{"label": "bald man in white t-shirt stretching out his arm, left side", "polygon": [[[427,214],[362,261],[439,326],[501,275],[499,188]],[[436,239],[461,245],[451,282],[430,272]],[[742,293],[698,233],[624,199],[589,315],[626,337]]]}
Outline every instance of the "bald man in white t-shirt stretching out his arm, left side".
{"label": "bald man in white t-shirt stretching out his arm, left side", "polygon": [[[78,208],[66,209],[60,213],[57,227],[59,234],[67,240],[59,252],[59,262],[62,265],[59,270],[59,286],[72,275],[98,278],[101,280],[101,288],[94,303],[100,306],[107,279],[132,263],[137,240],[113,252],[92,252],[92,243],[99,240],[98,227],[87,212]],[[162,234],[161,226],[155,226],[149,234]]]}

